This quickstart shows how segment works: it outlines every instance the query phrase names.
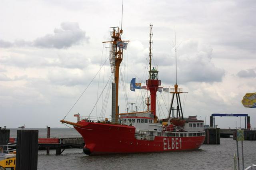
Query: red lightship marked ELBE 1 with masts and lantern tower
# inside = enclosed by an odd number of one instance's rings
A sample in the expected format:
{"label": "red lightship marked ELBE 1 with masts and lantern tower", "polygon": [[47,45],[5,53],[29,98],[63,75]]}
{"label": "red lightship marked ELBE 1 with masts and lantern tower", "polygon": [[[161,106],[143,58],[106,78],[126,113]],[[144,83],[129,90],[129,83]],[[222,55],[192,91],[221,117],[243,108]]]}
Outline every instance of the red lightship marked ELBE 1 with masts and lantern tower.
{"label": "red lightship marked ELBE 1 with masts and lantern tower", "polygon": [[[77,123],[61,120],[62,123],[73,125],[84,138],[84,153],[116,154],[138,152],[164,152],[178,150],[195,150],[204,142],[204,121],[186,119],[183,117],[180,103],[182,88],[178,88],[177,82],[170,89],[172,101],[170,111],[166,119],[159,120],[156,116],[156,92],[161,85],[158,79],[158,71],[151,68],[152,25],[150,25],[150,71],[146,80],[150,97],[146,98],[146,111],[134,111],[118,113],[118,83],[119,67],[123,59],[123,49],[126,49],[128,41],[122,41],[123,30],[113,27],[110,43],[110,65],[114,80],[112,83],[112,117],[92,118],[80,117]],[[117,29],[117,30],[116,30]],[[173,109],[174,96],[176,96],[176,109]],[[176,110],[176,117],[171,112]]]}

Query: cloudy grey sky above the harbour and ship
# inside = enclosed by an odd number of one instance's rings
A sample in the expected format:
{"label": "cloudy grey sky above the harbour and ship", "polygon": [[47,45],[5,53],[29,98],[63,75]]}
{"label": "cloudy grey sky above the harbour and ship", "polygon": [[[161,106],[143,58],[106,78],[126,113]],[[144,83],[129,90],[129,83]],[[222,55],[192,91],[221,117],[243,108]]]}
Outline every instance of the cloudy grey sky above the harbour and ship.
{"label": "cloudy grey sky above the harbour and ship", "polygon": [[[106,60],[66,120],[76,121],[78,112],[109,116],[110,99],[107,106],[102,103],[108,99],[111,74],[102,42],[110,40],[109,27],[121,25],[121,12],[121,0],[2,0],[0,127],[65,127],[60,120]],[[133,77],[142,84],[146,79],[153,23],[153,65],[158,65],[164,87],[175,83],[176,31],[177,80],[188,92],[181,96],[184,115],[207,117],[209,124],[212,113],[248,113],[256,127],[256,109],[241,104],[245,93],[256,92],[255,14],[254,0],[124,0],[122,39],[131,41],[121,66],[124,85]],[[145,92],[126,91],[129,102],[143,109]],[[158,113],[164,117],[170,96],[161,94],[163,113]],[[125,103],[120,90],[120,112],[126,110]],[[236,127],[235,121],[240,127],[240,118],[216,118],[222,128]]]}

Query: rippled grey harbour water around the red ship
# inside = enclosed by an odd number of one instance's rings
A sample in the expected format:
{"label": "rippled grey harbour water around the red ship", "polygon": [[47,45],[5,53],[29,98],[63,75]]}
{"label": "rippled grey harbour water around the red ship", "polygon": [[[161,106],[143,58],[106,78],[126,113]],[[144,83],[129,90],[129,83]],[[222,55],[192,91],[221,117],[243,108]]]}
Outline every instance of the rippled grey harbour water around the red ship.
{"label": "rippled grey harbour water around the red ship", "polygon": [[[35,129],[35,128],[33,128]],[[39,136],[46,136],[46,128],[38,129]],[[16,129],[10,136],[15,137]],[[79,135],[71,128],[51,128],[51,136]],[[242,166],[241,142],[239,142],[240,165]],[[165,170],[232,170],[236,141],[220,138],[219,145],[203,144],[199,150],[144,154],[116,154],[87,156],[80,148],[66,149],[62,155],[55,150],[38,151],[38,170],[82,169],[165,169]],[[256,141],[244,141],[244,166],[256,163]]]}

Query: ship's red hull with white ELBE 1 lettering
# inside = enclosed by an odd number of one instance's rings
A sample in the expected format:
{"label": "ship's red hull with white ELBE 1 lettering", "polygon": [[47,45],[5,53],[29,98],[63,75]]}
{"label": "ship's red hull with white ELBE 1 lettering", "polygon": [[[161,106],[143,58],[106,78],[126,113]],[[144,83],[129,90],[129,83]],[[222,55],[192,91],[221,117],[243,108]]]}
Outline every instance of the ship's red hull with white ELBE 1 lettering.
{"label": "ship's red hull with white ELBE 1 lettering", "polygon": [[83,136],[87,154],[112,154],[136,152],[166,152],[195,150],[204,142],[204,136],[155,136],[154,140],[135,138],[135,127],[103,123],[80,122],[74,127]]}

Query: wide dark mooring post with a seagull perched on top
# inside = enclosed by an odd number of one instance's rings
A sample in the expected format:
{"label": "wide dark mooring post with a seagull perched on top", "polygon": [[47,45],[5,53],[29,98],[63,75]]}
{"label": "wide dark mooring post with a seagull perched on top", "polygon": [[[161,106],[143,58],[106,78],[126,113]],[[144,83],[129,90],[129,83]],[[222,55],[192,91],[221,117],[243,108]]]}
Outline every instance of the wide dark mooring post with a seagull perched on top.
{"label": "wide dark mooring post with a seagull perched on top", "polygon": [[38,130],[17,130],[16,170],[36,170]]}

